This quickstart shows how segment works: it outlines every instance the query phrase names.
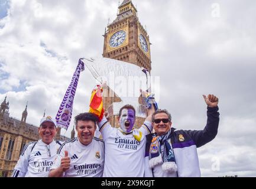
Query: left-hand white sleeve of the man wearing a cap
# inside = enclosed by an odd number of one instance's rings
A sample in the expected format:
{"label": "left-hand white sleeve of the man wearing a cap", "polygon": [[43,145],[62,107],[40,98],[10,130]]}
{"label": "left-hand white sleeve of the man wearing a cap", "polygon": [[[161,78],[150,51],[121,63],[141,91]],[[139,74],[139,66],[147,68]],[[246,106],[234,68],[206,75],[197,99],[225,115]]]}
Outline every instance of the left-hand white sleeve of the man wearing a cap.
{"label": "left-hand white sleeve of the man wearing a cap", "polygon": [[25,174],[28,172],[28,161],[34,144],[34,142],[30,142],[25,145],[17,164],[15,165],[14,171],[12,172],[12,177],[25,177]]}

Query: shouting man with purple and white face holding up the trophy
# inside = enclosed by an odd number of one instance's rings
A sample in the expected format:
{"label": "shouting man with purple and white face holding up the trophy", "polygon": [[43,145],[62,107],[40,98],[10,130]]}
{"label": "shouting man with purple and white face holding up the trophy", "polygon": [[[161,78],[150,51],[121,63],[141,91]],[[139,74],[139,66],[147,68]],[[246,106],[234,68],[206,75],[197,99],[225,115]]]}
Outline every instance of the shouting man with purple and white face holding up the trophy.
{"label": "shouting man with purple and white face holding up the trophy", "polygon": [[[142,92],[142,96],[148,96]],[[145,135],[151,133],[151,115],[155,106],[147,111],[147,118],[140,129],[134,128],[136,112],[133,106],[121,107],[118,115],[119,128],[113,128],[105,116],[98,123],[105,142],[103,177],[144,177]]]}

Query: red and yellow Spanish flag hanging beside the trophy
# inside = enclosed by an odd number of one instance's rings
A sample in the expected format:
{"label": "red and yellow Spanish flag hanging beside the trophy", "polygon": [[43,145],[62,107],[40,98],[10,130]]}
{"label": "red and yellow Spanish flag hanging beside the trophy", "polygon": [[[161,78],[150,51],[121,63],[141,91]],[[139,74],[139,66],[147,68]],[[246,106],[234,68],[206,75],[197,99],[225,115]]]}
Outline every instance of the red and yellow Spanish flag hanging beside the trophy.
{"label": "red and yellow Spanish flag hanging beside the trophy", "polygon": [[89,112],[95,114],[99,118],[99,122],[103,118],[103,99],[102,99],[103,88],[99,85],[92,90],[92,96],[90,96]]}

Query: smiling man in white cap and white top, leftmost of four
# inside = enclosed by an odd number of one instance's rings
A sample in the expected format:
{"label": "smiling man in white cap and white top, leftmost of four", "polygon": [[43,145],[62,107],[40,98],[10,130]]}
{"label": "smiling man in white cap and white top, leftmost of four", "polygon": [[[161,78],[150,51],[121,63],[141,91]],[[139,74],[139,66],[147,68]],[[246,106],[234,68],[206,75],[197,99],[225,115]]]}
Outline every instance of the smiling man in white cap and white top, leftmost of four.
{"label": "smiling man in white cap and white top, leftmost of four", "polygon": [[12,177],[47,177],[56,158],[60,141],[54,141],[56,121],[51,116],[41,119],[38,128],[40,140],[24,146]]}

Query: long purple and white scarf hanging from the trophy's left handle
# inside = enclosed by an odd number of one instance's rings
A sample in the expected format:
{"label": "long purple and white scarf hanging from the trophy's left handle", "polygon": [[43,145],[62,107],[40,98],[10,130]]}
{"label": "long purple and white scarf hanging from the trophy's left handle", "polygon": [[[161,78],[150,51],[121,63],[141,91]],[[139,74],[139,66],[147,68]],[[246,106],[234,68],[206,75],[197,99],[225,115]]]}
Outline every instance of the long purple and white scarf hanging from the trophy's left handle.
{"label": "long purple and white scarf hanging from the trophy's left handle", "polygon": [[74,71],[71,83],[67,88],[65,96],[60,104],[59,111],[56,115],[57,126],[60,126],[61,128],[66,130],[69,127],[69,123],[72,118],[74,94],[76,94],[76,87],[79,81],[80,72],[83,70],[85,70],[85,65],[80,58],[76,67],[76,71]]}

